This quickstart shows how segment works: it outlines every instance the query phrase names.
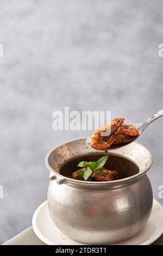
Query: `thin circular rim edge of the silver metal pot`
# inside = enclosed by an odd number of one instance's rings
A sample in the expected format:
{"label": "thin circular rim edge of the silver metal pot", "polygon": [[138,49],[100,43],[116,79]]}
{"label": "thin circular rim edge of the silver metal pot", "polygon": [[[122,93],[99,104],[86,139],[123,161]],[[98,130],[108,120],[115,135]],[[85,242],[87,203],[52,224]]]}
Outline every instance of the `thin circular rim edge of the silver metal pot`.
{"label": "thin circular rim edge of the silver metal pot", "polygon": [[[132,176],[129,176],[129,177],[127,177],[127,178],[123,178],[123,179],[119,179],[119,180],[111,180],[111,181],[84,181],[84,180],[75,180],[75,179],[71,179],[71,178],[68,178],[68,177],[66,177],[66,176],[64,176],[64,175],[61,175],[60,173],[58,173],[58,172],[56,172],[54,169],[52,169],[52,167],[49,165],[49,162],[48,162],[48,159],[49,159],[49,156],[51,155],[51,153],[55,150],[55,149],[57,149],[58,147],[60,147],[60,146],[62,146],[62,145],[65,145],[66,143],[70,143],[70,142],[74,142],[74,141],[77,141],[77,140],[82,140],[82,139],[86,139],[85,137],[84,138],[79,138],[79,139],[72,139],[71,141],[67,141],[67,142],[64,142],[64,143],[62,143],[62,144],[60,144],[60,145],[58,145],[57,147],[54,147],[52,150],[50,150],[49,152],[48,152],[48,154],[46,155],[46,157],[45,157],[45,164],[46,164],[46,167],[48,168],[48,170],[50,170],[51,172],[53,172],[56,176],[57,176],[57,178],[59,178],[60,180],[64,180],[65,182],[63,182],[63,184],[64,183],[67,183],[67,184],[83,184],[83,185],[118,185],[118,184],[122,184],[123,182],[124,182],[124,184],[126,183],[126,181],[133,181],[133,180],[135,180],[135,179],[137,179],[137,178],[140,178],[140,176],[142,176],[143,174],[145,174],[147,171],[148,171],[148,169],[149,168],[151,168],[151,166],[152,166],[152,164],[153,164],[153,155],[152,155],[152,153],[151,153],[151,151],[148,149],[148,148],[146,148],[144,145],[142,145],[141,143],[137,143],[137,142],[132,142],[132,143],[134,143],[134,144],[137,144],[137,145],[141,145],[143,148],[145,148],[147,151],[148,151],[148,153],[149,153],[149,155],[150,155],[150,158],[151,158],[151,160],[150,160],[150,162],[149,162],[149,164],[148,164],[148,167],[147,168],[145,168],[144,170],[143,170],[143,172],[139,172],[139,173],[137,173],[137,174],[135,174],[135,175],[132,175]],[[127,147],[127,146],[126,146]],[[108,154],[111,154],[111,155],[118,155],[118,156],[121,156],[121,155],[119,155],[119,154],[116,154],[116,153],[111,153],[111,151],[114,151],[115,152],[115,150],[108,150],[108,153],[103,153],[104,155],[108,155]],[[102,151],[103,152],[103,151]],[[99,153],[100,153],[100,151],[99,151]],[[132,162],[134,162],[136,165],[137,165],[137,163],[135,162],[135,161],[133,161],[132,159],[130,159],[130,157],[128,157],[128,156],[123,156],[122,155],[122,157],[124,157],[124,158],[126,158],[126,159],[129,159],[130,161],[132,161]],[[139,167],[139,166],[138,166]],[[61,184],[61,182],[59,182],[59,184]]]}

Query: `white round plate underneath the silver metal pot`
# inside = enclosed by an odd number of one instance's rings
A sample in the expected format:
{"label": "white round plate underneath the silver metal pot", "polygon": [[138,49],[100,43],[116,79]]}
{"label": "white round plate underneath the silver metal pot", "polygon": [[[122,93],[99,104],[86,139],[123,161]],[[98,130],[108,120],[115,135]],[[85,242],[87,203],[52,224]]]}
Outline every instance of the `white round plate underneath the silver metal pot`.
{"label": "white round plate underneath the silver metal pot", "polygon": [[[62,234],[49,215],[47,201],[35,211],[32,219],[35,234],[47,245],[84,245]],[[163,206],[155,199],[151,216],[145,227],[130,239],[116,245],[150,245],[163,233]]]}

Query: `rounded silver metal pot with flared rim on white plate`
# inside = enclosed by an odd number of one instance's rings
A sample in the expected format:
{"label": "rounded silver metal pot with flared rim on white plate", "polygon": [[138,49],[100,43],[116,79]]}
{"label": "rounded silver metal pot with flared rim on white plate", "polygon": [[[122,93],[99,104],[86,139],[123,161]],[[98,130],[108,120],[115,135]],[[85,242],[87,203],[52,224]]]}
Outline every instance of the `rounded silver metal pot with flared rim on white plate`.
{"label": "rounded silver metal pot with flared rim on white plate", "polygon": [[[66,160],[88,153],[130,160],[139,172],[129,176],[128,170],[127,178],[106,182],[72,180],[60,174]],[[151,214],[153,194],[146,175],[153,162],[149,150],[133,142],[105,154],[87,148],[83,138],[62,144],[46,156],[51,170],[49,213],[62,233],[82,243],[106,245],[129,239]]]}

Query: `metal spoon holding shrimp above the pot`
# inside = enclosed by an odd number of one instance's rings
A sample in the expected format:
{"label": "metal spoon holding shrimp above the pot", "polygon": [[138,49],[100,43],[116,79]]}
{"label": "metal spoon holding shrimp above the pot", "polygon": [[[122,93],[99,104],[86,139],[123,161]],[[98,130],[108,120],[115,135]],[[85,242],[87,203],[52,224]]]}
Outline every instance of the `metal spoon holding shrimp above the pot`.
{"label": "metal spoon holding shrimp above the pot", "polygon": [[[135,139],[137,139],[138,137],[140,137],[141,133],[143,132],[143,130],[146,129],[146,127],[151,124],[155,119],[158,119],[159,117],[163,116],[163,109],[160,110],[158,113],[154,114],[152,117],[148,118],[145,122],[143,123],[139,123],[139,124],[133,124],[133,126],[137,129],[139,135],[134,136],[133,140],[127,143],[121,143],[121,144],[117,144],[117,145],[111,145],[111,147],[109,149],[95,149],[91,146],[91,135],[87,137],[86,139],[86,144],[94,150],[100,150],[100,151],[105,151],[108,152],[108,150],[112,150],[112,149],[117,149],[117,148],[121,148],[126,146],[127,144],[130,144],[131,142],[135,141]],[[104,134],[104,133],[103,133]],[[108,136],[102,136],[102,137],[108,137]]]}

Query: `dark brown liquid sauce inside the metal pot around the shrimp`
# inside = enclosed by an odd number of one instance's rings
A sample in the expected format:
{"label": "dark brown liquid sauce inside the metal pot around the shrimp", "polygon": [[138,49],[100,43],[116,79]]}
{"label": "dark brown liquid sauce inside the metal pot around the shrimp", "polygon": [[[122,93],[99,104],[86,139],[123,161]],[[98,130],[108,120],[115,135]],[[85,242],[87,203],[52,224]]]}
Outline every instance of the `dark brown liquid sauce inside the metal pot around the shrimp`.
{"label": "dark brown liquid sauce inside the metal pot around the shrimp", "polygon": [[[139,168],[137,167],[137,165],[134,162],[130,161],[129,159],[122,156],[109,155],[109,154],[105,154],[105,155],[108,155],[109,157],[104,167],[109,170],[116,170],[120,174],[120,179],[124,179],[139,173]],[[70,178],[71,174],[75,170],[80,169],[80,167],[77,167],[79,162],[97,161],[102,156],[104,156],[104,154],[89,153],[89,154],[83,154],[83,155],[71,157],[61,165],[60,174]]]}

